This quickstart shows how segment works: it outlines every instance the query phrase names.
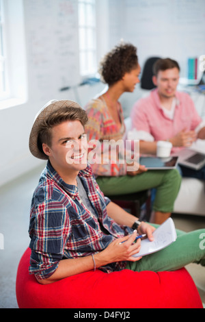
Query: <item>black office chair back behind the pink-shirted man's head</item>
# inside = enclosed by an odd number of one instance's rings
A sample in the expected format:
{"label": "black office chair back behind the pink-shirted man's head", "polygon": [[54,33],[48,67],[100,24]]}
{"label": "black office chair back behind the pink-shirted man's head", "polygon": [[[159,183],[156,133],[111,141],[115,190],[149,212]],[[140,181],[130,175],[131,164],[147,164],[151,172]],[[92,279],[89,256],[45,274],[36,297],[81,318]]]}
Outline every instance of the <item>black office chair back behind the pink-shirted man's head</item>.
{"label": "black office chair back behind the pink-shirted man's head", "polygon": [[154,62],[159,60],[159,58],[160,57],[150,57],[148,60],[146,60],[141,75],[141,88],[145,90],[152,90],[152,88],[156,87],[152,82],[152,76],[154,75],[152,68]]}

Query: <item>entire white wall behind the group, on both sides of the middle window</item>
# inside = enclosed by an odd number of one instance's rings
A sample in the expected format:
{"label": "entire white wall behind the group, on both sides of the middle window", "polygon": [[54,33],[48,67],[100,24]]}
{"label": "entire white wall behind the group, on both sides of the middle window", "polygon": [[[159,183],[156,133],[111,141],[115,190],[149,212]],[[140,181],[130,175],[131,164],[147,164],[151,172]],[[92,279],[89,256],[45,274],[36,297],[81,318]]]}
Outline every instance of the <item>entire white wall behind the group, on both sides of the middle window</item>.
{"label": "entire white wall behind the group, on both sides of the middle window", "polygon": [[[99,60],[121,38],[137,46],[141,66],[150,55],[171,55],[179,60],[185,73],[187,57],[205,54],[204,0],[97,3]],[[23,4],[25,53],[20,51],[19,43],[12,54],[25,57],[25,69],[18,65],[16,78],[21,71],[26,73],[27,101],[0,109],[0,186],[41,162],[31,156],[28,141],[34,116],[47,101],[73,99],[84,106],[104,88],[104,84],[75,86],[79,82],[77,0],[23,0]],[[61,92],[59,88],[64,86],[71,89]],[[122,95],[125,115],[139,95],[139,88],[134,94]]]}

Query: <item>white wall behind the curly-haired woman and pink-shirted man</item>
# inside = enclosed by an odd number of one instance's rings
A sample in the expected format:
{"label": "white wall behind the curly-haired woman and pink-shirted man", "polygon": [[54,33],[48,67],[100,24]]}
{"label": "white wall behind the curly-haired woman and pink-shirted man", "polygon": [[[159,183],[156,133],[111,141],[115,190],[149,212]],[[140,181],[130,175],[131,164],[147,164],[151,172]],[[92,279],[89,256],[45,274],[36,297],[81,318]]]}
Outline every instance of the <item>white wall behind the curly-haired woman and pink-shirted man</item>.
{"label": "white wall behind the curly-haired woman and pink-shirted man", "polygon": [[[204,0],[109,0],[110,44],[120,39],[137,47],[139,64],[151,56],[173,58],[187,77],[187,59],[205,54]],[[198,77],[202,72],[199,70]],[[138,86],[139,88],[139,86]],[[126,116],[141,92],[122,95]]]}

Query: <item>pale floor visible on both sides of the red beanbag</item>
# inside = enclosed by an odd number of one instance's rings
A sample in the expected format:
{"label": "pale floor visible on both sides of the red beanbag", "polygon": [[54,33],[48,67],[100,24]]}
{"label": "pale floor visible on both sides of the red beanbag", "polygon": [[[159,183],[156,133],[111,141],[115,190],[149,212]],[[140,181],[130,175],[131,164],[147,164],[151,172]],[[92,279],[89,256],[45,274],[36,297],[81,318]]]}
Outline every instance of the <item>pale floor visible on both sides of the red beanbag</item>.
{"label": "pale floor visible on both sides of the red beanbag", "polygon": [[[18,262],[29,245],[29,208],[41,168],[35,169],[0,188],[0,308],[18,308],[15,281]],[[173,216],[177,228],[189,232],[205,227],[205,216]],[[205,303],[205,269],[189,264],[191,273]]]}

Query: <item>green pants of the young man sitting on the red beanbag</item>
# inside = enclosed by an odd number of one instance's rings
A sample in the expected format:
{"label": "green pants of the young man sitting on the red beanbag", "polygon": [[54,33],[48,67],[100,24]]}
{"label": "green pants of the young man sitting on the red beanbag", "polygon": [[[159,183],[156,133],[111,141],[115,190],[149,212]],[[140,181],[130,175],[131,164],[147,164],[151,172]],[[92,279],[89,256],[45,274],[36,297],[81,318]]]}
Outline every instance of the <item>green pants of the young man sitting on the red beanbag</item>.
{"label": "green pants of the young man sitting on the red beanbag", "polygon": [[[152,224],[154,227],[157,225]],[[176,230],[177,239],[161,251],[143,256],[137,262],[128,262],[132,271],[174,271],[195,262],[205,267],[205,230],[182,232]],[[205,270],[204,270],[205,276]]]}

